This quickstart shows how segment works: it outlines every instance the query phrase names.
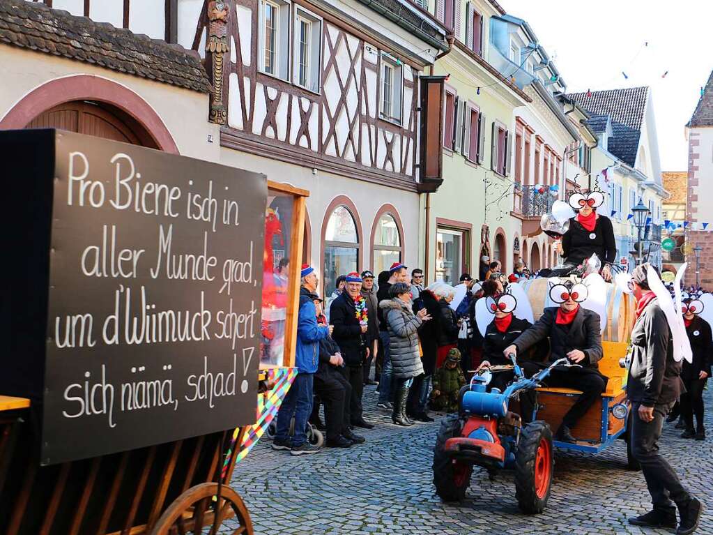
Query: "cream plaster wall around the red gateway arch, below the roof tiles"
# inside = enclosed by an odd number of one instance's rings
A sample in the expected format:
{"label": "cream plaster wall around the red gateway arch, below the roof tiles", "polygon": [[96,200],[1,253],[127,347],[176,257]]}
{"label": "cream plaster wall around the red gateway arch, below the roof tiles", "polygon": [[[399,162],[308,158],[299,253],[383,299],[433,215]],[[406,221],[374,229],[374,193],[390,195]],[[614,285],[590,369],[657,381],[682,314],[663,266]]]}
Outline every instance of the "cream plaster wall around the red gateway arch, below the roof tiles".
{"label": "cream plaster wall around the red gateway arch, below the roof tiles", "polygon": [[[136,93],[158,114],[173,136],[178,151],[207,161],[217,161],[220,129],[207,121],[208,96],[167,83],[138,78],[48,54],[0,45],[0,119],[21,98],[48,81],[79,74],[100,76]],[[213,143],[207,138],[213,136]]]}

